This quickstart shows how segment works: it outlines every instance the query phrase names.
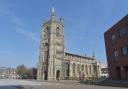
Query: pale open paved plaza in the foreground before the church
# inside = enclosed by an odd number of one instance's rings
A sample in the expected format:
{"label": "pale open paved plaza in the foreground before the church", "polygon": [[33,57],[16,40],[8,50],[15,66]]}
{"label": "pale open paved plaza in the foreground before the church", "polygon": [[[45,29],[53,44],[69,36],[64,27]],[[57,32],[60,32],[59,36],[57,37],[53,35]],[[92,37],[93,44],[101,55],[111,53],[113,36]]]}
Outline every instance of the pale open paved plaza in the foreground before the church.
{"label": "pale open paved plaza in the foreground before the church", "polygon": [[98,85],[85,85],[77,81],[36,81],[0,79],[0,89],[126,89]]}

